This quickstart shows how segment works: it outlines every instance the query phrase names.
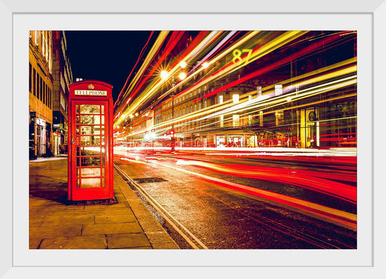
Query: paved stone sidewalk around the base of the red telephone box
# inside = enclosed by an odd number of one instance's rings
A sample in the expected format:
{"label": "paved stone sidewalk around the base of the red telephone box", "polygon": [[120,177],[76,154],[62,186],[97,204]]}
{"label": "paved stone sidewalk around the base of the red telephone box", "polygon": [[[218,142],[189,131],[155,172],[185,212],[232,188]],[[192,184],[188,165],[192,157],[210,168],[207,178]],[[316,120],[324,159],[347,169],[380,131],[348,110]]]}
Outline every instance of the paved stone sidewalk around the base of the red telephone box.
{"label": "paved stone sidewalk around the base of the red telephone box", "polygon": [[30,249],[179,249],[114,171],[112,205],[68,205],[67,157],[30,161]]}

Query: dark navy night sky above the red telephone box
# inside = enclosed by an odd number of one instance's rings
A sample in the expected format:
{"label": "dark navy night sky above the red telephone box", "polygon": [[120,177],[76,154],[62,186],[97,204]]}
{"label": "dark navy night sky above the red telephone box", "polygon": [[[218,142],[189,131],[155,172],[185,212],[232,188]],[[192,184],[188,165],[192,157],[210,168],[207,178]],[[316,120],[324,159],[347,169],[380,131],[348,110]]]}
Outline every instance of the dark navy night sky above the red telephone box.
{"label": "dark navy night sky above the red telephone box", "polygon": [[[65,31],[65,35],[74,81],[81,78],[110,83],[115,102],[150,31]],[[152,41],[147,50],[151,46]]]}

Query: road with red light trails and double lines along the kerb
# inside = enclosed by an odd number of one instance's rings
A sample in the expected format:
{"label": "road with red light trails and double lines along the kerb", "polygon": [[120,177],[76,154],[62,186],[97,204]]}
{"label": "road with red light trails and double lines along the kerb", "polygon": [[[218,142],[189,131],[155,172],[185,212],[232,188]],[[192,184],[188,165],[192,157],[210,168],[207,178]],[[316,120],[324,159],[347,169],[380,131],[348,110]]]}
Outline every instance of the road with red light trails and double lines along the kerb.
{"label": "road with red light trails and double lines along the kerb", "polygon": [[183,249],[356,249],[356,161],[115,154],[128,187]]}

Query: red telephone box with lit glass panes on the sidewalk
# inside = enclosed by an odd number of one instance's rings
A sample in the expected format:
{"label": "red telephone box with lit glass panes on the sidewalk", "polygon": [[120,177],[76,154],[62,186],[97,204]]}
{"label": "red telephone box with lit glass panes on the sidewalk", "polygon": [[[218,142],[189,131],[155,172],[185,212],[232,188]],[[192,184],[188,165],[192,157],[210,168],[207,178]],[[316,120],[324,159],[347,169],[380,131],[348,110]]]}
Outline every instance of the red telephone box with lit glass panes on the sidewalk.
{"label": "red telephone box with lit glass panes on the sidewalk", "polygon": [[88,80],[69,87],[68,199],[112,199],[112,85]]}

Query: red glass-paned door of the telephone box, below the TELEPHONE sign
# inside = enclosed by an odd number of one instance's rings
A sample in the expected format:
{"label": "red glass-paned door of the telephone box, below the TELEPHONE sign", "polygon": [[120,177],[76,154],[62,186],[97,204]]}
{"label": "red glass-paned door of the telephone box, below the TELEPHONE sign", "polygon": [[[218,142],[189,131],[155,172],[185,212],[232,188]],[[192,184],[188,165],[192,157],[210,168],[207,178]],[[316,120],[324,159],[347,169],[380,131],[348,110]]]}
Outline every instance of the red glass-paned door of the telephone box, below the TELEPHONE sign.
{"label": "red glass-paned door of the telephone box, below the TELEPHONE sign", "polygon": [[74,100],[71,114],[72,200],[112,198],[108,101]]}

